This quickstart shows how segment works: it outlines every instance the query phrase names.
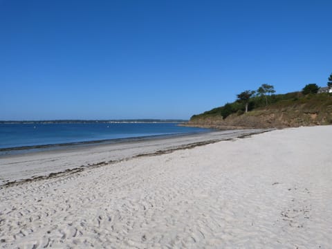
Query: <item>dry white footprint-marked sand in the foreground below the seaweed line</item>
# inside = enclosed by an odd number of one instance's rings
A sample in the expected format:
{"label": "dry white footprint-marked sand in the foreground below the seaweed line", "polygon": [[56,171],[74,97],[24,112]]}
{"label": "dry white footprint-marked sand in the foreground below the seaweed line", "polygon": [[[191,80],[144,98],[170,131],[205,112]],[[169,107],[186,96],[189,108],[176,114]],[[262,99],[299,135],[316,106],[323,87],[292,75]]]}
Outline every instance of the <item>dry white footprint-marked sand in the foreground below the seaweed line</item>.
{"label": "dry white footprint-marked sand in the foreground below the seaweed line", "polygon": [[3,186],[0,247],[331,248],[331,138],[275,130]]}

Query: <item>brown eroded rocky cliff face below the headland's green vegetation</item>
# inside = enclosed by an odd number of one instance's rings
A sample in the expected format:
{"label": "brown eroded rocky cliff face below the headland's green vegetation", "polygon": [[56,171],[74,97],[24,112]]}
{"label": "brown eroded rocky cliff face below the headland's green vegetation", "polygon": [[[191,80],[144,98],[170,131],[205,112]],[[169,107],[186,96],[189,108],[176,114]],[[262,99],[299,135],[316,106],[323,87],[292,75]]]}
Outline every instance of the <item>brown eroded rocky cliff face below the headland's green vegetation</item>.
{"label": "brown eroded rocky cliff face below the headland's green vegetation", "polygon": [[332,124],[332,104],[311,107],[308,104],[270,107],[242,115],[195,116],[189,126],[214,129],[285,128]]}

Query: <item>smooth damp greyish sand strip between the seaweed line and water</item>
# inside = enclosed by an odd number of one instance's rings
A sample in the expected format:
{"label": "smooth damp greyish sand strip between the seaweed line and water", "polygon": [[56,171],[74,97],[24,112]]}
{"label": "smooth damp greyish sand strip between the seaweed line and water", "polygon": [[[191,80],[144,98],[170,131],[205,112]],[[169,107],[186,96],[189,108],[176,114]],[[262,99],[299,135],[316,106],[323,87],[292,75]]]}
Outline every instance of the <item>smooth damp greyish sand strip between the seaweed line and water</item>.
{"label": "smooth damp greyish sand strip between the seaweed line and water", "polygon": [[[104,145],[66,146],[37,153],[0,156],[0,185],[47,176],[68,169],[86,169],[138,155],[172,151],[197,143],[216,142],[260,133],[264,129],[228,130],[154,139],[125,140]],[[63,149],[62,149],[63,148]]]}

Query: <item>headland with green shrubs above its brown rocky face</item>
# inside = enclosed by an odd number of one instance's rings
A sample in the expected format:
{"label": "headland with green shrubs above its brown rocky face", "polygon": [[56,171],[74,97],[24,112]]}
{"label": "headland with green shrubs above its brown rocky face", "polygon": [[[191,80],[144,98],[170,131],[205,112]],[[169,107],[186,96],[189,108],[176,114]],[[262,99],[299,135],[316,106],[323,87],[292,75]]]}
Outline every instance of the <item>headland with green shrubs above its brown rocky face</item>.
{"label": "headland with green shrubs above its brown rocky face", "polygon": [[246,104],[236,100],[194,115],[188,124],[226,129],[332,124],[332,94],[255,95],[248,101],[248,113],[245,111]]}

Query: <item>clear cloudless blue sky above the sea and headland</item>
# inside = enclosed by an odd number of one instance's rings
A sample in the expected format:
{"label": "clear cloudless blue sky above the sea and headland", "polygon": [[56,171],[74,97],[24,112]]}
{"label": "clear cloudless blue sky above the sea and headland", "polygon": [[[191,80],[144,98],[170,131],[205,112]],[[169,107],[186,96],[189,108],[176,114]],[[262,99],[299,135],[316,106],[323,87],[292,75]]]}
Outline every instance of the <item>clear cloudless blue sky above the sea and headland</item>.
{"label": "clear cloudless blue sky above the sea and headland", "polygon": [[332,1],[0,0],[0,120],[190,118],[326,86]]}

